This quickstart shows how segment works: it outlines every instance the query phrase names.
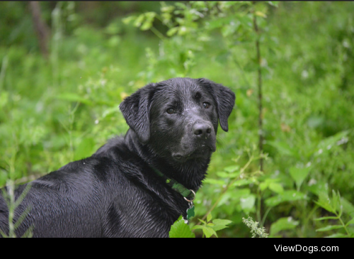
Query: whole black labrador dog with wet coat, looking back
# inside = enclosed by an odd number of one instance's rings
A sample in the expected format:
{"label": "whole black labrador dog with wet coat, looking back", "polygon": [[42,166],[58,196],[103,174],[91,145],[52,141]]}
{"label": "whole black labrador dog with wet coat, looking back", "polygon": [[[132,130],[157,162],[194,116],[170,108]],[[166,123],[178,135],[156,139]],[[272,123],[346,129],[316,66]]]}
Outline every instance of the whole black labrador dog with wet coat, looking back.
{"label": "whole black labrador dog with wet coat, looking back", "polygon": [[[124,137],[30,182],[14,221],[30,212],[16,236],[32,227],[33,237],[168,237],[173,222],[187,217],[189,190],[200,188],[218,121],[228,131],[234,102],[230,89],[208,79],[142,87],[120,104],[130,126]],[[17,187],[16,197],[26,185]],[[1,193],[0,229],[8,233]]]}

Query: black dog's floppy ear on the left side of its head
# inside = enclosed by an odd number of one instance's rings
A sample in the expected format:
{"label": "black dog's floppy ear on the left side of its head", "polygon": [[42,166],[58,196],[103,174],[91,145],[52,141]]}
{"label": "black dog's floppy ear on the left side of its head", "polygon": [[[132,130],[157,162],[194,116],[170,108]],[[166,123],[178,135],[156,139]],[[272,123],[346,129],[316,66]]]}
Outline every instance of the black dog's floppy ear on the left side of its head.
{"label": "black dog's floppy ear on the left side of its head", "polygon": [[150,139],[150,104],[155,84],[147,84],[119,105],[128,126],[143,144]]}

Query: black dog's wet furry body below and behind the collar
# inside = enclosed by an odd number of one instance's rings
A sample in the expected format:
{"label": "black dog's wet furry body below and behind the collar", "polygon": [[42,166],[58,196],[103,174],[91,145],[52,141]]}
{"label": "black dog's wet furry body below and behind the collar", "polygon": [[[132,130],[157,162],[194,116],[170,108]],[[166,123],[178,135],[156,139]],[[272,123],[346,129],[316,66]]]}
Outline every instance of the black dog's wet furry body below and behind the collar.
{"label": "black dog's wet furry body below and behind the collar", "polygon": [[[159,213],[166,201],[154,193],[156,179],[151,169],[147,171],[148,165],[127,149],[123,138],[114,138],[91,158],[70,162],[30,182],[14,222],[26,209],[30,212],[16,227],[16,236],[33,227],[31,232],[37,238],[167,237],[169,226],[181,211],[175,209],[176,216],[161,220]],[[150,180],[147,173],[152,176]],[[16,199],[26,186],[18,186]],[[161,187],[158,192],[168,197],[164,184]],[[8,208],[1,194],[0,229],[8,235]]]}

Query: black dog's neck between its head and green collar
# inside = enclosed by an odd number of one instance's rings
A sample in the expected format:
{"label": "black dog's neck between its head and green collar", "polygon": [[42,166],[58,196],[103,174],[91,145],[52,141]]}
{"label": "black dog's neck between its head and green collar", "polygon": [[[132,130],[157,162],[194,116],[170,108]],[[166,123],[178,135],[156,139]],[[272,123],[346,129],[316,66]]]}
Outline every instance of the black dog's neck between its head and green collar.
{"label": "black dog's neck between its head and green collar", "polygon": [[207,174],[210,158],[187,160],[185,162],[175,162],[172,158],[160,158],[154,150],[149,148],[149,143],[145,145],[140,143],[132,129],[129,129],[125,135],[125,144],[132,153],[139,155],[150,167],[156,168],[166,177],[173,178],[188,189],[197,191]]}

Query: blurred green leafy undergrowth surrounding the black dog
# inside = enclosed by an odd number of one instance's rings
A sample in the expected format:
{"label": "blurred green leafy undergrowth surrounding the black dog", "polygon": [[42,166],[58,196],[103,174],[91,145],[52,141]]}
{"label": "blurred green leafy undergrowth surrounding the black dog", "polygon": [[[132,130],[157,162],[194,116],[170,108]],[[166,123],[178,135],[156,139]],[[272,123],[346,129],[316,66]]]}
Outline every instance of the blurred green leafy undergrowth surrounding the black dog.
{"label": "blurred green leafy undergrowth surrounding the black dog", "polygon": [[[39,16],[30,2],[0,1],[0,187],[124,134],[118,105],[145,84],[206,77],[232,89],[236,106],[229,132],[219,128],[193,224],[212,209],[233,222],[219,237],[251,236],[247,216],[273,237],[353,237],[353,2],[38,6]],[[47,28],[47,54],[35,18]],[[246,164],[259,155],[256,40],[263,173],[258,160]]]}

